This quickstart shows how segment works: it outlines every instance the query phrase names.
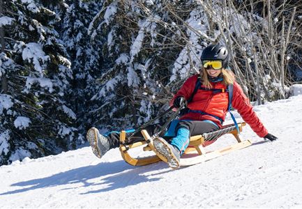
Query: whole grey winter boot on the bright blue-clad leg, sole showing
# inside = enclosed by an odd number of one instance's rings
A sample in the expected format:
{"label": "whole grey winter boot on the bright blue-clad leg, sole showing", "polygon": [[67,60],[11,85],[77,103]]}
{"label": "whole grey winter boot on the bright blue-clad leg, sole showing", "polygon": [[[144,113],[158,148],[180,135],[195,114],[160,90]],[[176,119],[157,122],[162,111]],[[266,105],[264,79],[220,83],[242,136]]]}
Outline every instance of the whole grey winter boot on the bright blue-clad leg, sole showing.
{"label": "whole grey winter boot on the bright blue-clad leg, sole showing", "polygon": [[176,148],[176,146],[167,143],[167,141],[165,141],[165,139],[161,137],[157,137],[153,140],[153,146],[158,154],[167,160],[169,167],[171,167],[172,169],[177,169],[179,167],[181,155],[179,153],[179,149]]}

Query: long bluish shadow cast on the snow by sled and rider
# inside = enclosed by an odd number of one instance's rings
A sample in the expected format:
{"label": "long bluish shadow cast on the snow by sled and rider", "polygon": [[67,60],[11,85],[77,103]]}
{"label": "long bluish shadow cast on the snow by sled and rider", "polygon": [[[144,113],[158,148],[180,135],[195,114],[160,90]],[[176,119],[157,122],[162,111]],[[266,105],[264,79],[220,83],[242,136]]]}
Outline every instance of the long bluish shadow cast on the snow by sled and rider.
{"label": "long bluish shadow cast on the snow by sled and rider", "polygon": [[[144,167],[133,167],[126,162],[120,160],[116,162],[101,162],[97,165],[90,165],[87,167],[81,167],[77,169],[71,169],[69,171],[56,173],[52,176],[45,178],[38,178],[33,180],[22,181],[20,183],[14,183],[12,187],[26,187],[21,189],[15,189],[10,192],[4,192],[0,195],[6,194],[17,194],[22,192],[27,192],[33,189],[41,189],[47,187],[56,187],[59,185],[70,185],[69,188],[64,189],[73,189],[73,184],[82,183],[80,187],[98,187],[98,189],[92,190],[91,188],[87,189],[87,192],[81,194],[89,193],[98,193],[98,192],[107,192],[114,189],[119,189],[127,187],[129,185],[137,185],[139,183],[151,182],[160,180],[160,178],[153,178],[156,174],[144,174],[149,171],[167,169],[167,164],[164,162],[158,162],[156,164],[146,165]],[[169,169],[172,171],[172,169]],[[160,174],[160,173],[158,173]],[[111,176],[107,176],[111,175]],[[102,176],[107,176],[102,178]],[[93,180],[94,178],[98,178]]]}

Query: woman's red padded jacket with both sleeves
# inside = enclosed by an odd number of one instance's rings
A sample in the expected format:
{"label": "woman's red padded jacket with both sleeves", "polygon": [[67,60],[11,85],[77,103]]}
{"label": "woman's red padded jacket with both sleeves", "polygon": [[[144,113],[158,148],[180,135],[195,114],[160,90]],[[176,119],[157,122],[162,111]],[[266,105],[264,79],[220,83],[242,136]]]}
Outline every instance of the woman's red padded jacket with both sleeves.
{"label": "woman's red padded jacket with both sleeves", "polygon": [[[170,101],[170,105],[173,105],[174,99],[177,98],[179,95],[182,95],[186,100],[190,98],[192,95],[195,84],[197,82],[198,75],[193,75],[192,77],[188,78],[186,82],[181,86],[179,91],[174,95],[174,98]],[[211,83],[213,88],[227,88],[221,82],[213,82]],[[205,86],[204,86],[205,87]],[[227,107],[228,107],[228,100],[229,96],[227,92],[224,93],[213,93],[213,91],[206,91],[202,89],[198,89],[195,93],[192,101],[188,103],[188,108],[191,110],[199,110],[206,112],[207,114],[212,114],[214,116],[218,116],[225,121],[225,115],[227,114]],[[233,100],[232,100],[232,107],[236,109],[241,117],[243,118],[248,125],[252,128],[252,130],[259,136],[264,137],[268,134],[268,131],[259,120],[255,111],[252,110],[252,105],[250,101],[243,93],[242,88],[234,82],[233,88]],[[199,113],[189,112],[188,114],[184,114],[180,118],[181,120],[195,120],[195,121],[204,121],[210,120],[215,122],[218,126],[222,127],[220,121],[209,115],[202,115]]]}

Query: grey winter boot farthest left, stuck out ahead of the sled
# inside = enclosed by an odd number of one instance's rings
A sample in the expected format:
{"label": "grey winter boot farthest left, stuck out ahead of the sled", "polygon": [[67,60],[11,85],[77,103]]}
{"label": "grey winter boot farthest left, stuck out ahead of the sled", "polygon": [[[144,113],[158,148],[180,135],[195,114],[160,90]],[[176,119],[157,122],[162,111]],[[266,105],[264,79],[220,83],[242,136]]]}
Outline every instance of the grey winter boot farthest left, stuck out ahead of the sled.
{"label": "grey winter boot farthest left, stuck out ahead of the sled", "polygon": [[100,158],[110,150],[110,144],[107,137],[98,132],[95,127],[91,127],[86,135],[87,140],[92,148],[93,154]]}

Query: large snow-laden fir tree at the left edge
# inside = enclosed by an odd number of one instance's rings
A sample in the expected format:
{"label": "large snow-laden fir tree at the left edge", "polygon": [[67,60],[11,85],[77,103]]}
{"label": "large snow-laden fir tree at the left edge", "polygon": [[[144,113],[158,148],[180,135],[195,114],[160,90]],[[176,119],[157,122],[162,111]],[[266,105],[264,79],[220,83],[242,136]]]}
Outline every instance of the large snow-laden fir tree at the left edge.
{"label": "large snow-laden fir tree at the left edge", "polygon": [[73,75],[54,30],[59,18],[42,1],[2,6],[0,75],[7,86],[0,94],[0,164],[75,148],[76,116],[65,98]]}

